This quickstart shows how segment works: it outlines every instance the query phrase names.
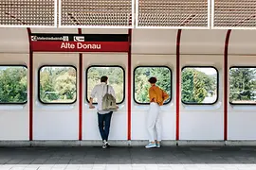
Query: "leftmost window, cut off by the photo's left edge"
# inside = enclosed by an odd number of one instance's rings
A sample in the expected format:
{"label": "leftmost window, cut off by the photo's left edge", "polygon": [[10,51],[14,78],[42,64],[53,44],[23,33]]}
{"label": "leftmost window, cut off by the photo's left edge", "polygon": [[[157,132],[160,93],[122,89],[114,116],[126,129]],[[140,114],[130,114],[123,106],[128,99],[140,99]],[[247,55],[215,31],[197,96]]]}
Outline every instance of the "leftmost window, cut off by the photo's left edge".
{"label": "leftmost window, cut off by the photo's left edge", "polygon": [[27,102],[27,67],[0,66],[0,104]]}

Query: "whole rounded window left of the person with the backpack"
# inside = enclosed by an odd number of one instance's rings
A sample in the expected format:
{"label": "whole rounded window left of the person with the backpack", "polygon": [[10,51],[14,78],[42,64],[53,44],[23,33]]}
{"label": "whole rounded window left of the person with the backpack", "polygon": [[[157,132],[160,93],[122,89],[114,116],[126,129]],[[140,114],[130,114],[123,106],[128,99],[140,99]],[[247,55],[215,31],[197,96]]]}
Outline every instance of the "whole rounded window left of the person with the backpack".
{"label": "whole rounded window left of the person with the backpack", "polygon": [[73,66],[43,66],[39,70],[39,99],[45,104],[70,104],[77,99],[77,70]]}

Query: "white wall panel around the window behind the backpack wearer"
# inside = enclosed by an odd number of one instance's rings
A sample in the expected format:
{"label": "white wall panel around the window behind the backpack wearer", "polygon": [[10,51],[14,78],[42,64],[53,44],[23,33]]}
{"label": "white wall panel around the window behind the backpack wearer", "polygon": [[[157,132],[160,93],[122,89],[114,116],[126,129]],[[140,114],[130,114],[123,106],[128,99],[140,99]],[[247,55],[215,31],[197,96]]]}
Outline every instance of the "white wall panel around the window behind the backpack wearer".
{"label": "white wall panel around the window behind the backpack wearer", "polygon": [[[127,140],[127,95],[128,95],[128,72],[127,72],[127,53],[84,53],[82,55],[83,63],[83,83],[86,84],[85,72],[91,65],[119,65],[125,70],[125,100],[119,104],[119,110],[112,115],[109,140]],[[100,82],[99,82],[100,83]],[[83,99],[85,99],[85,84],[83,86]],[[82,140],[101,140],[98,127],[97,110],[90,110],[87,101],[83,101],[82,112]]]}

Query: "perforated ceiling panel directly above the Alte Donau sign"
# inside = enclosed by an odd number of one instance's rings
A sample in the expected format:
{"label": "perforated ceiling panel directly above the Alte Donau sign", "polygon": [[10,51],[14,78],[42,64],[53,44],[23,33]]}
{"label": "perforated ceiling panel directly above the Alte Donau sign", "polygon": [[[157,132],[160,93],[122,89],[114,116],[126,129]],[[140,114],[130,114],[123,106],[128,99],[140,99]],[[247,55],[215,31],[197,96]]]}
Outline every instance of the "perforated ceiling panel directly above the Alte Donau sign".
{"label": "perforated ceiling panel directly above the Alte Donau sign", "polygon": [[61,0],[62,27],[132,27],[133,0]]}

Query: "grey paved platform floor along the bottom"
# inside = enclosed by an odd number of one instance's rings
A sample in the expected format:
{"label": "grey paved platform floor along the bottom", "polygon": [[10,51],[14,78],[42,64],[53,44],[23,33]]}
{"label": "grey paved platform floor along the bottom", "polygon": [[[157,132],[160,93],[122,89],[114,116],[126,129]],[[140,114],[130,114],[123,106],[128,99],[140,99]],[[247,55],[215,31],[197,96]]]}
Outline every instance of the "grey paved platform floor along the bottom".
{"label": "grey paved platform floor along the bottom", "polygon": [[0,147],[1,170],[256,170],[256,147]]}

